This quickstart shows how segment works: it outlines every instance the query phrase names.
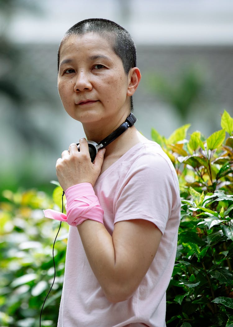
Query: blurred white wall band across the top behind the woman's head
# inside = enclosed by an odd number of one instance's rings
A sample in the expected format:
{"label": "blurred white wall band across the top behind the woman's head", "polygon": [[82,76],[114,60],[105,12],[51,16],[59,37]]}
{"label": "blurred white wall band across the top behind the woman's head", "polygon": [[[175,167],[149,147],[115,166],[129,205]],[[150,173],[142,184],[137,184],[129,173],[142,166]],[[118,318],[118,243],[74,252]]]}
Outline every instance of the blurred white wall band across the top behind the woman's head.
{"label": "blurred white wall band across the top behind the woman's head", "polygon": [[15,12],[9,35],[17,42],[58,43],[80,20],[107,18],[137,44],[232,44],[232,0],[31,0],[38,16]]}

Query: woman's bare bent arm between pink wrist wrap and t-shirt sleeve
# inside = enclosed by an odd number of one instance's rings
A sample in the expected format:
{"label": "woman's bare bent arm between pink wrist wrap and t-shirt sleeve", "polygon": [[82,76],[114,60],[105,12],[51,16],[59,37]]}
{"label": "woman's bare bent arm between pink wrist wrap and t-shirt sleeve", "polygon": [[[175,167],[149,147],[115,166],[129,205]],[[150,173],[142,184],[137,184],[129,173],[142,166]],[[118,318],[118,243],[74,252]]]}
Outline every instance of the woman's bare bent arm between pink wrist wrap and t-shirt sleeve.
{"label": "woman's bare bent arm between pink wrist wrap and t-shirt sleeve", "polygon": [[107,299],[127,300],[154,259],[161,231],[143,219],[117,222],[112,236],[103,224],[92,220],[77,228],[89,264]]}

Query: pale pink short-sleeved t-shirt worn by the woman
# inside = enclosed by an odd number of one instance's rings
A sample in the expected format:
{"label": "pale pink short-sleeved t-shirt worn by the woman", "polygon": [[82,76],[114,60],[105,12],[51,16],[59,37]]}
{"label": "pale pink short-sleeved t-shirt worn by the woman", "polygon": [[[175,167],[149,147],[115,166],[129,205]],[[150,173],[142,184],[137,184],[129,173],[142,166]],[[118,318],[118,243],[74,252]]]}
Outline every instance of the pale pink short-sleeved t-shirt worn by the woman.
{"label": "pale pink short-sleeved t-shirt worn by the woman", "polygon": [[111,303],[90,268],[77,228],[70,226],[58,327],[164,327],[180,221],[179,184],[171,161],[158,144],[138,143],[101,174],[94,190],[110,234],[118,221],[146,219],[163,236],[132,297]]}

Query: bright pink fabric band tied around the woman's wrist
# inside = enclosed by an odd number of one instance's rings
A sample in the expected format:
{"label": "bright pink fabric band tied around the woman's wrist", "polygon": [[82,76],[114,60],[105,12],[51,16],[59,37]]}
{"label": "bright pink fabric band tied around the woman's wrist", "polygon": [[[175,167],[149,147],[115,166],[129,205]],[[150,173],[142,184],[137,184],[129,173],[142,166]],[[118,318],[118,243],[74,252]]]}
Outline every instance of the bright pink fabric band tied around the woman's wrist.
{"label": "bright pink fabric band tied around the woman's wrist", "polygon": [[71,226],[82,224],[86,219],[103,224],[103,209],[99,203],[91,183],[80,183],[70,186],[66,192],[66,215],[61,212],[46,209],[47,218],[66,221]]}

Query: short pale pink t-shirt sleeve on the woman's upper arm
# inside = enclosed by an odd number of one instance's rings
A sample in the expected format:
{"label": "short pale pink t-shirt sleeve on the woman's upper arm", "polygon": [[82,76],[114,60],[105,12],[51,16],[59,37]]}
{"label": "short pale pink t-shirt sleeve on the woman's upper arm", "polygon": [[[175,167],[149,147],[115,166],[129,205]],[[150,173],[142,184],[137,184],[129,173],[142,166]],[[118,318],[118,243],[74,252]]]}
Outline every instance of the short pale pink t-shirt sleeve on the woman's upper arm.
{"label": "short pale pink t-shirt sleeve on the woman's upper arm", "polygon": [[145,219],[164,233],[177,198],[170,165],[159,153],[142,154],[135,160],[116,194],[114,223]]}

